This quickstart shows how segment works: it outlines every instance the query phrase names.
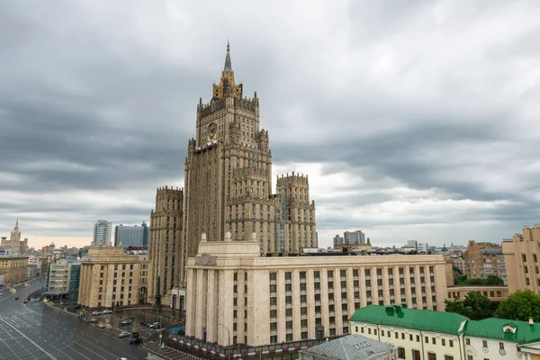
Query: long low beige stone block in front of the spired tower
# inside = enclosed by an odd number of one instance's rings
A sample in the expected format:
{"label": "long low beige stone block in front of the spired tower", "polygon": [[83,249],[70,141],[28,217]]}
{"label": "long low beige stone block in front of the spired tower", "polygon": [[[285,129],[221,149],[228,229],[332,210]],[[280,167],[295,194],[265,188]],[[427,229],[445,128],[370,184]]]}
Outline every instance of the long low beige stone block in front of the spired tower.
{"label": "long low beige stone block in front of the spired tower", "polygon": [[441,255],[260,257],[257,236],[226,238],[202,239],[187,266],[186,335],[222,346],[226,329],[249,346],[347,334],[368,304],[444,310],[452,282]]}

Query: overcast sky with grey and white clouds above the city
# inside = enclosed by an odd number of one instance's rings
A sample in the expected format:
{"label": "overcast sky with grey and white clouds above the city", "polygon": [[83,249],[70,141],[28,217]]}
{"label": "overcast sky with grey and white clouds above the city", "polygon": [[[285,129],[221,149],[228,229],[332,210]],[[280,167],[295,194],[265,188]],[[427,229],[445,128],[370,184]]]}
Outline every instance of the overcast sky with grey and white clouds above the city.
{"label": "overcast sky with grey and white clouds above the city", "polygon": [[[500,242],[540,223],[540,4],[0,3],[0,236],[89,244],[183,186],[228,38],[274,178],[308,174],[320,246]],[[274,184],[275,185],[275,184]]]}

